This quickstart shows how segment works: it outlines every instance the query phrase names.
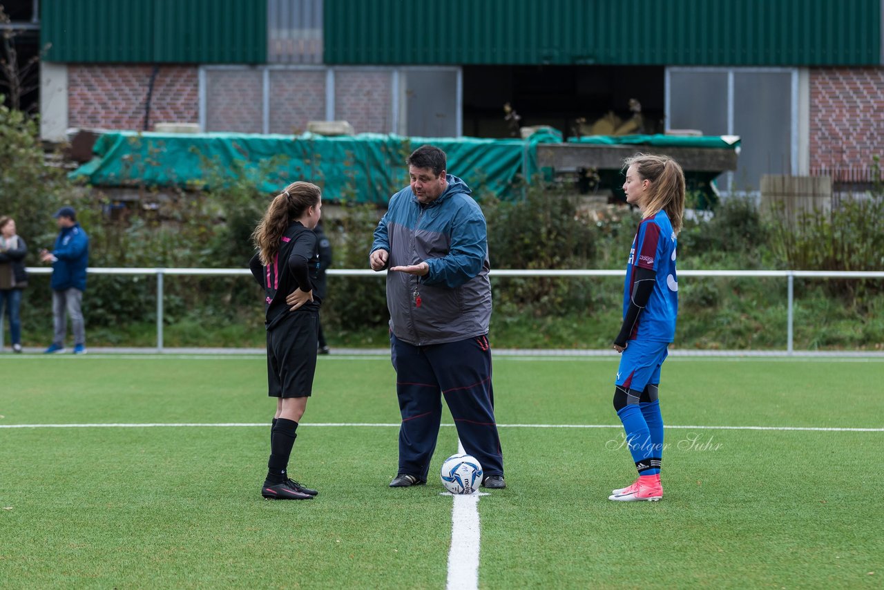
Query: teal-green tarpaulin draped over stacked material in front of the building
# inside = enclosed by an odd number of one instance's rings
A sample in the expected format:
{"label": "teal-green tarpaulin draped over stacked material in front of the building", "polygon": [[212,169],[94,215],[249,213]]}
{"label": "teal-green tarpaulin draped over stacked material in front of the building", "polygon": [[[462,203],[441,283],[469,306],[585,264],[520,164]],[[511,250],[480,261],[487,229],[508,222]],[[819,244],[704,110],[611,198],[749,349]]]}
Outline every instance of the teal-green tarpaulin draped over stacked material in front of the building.
{"label": "teal-green tarpaulin draped over stacked material in front of the building", "polygon": [[[720,137],[591,136],[569,141],[735,148],[735,143]],[[120,131],[100,136],[93,148],[95,158],[70,175],[102,187],[194,189],[212,188],[244,175],[267,193],[276,193],[294,180],[308,180],[322,187],[330,201],[386,204],[408,183],[405,158],[411,150],[432,143],[446,151],[448,172],[466,180],[476,198],[487,194],[507,198],[520,194],[513,188],[522,180],[536,177],[536,146],[545,142],[561,142],[561,134],[544,129],[521,140]]]}

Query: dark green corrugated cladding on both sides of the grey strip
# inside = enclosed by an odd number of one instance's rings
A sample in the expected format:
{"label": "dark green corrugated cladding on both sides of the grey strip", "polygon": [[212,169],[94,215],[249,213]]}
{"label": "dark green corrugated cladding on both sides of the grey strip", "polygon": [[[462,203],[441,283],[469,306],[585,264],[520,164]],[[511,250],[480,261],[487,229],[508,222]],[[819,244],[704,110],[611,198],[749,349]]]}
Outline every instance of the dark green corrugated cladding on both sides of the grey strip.
{"label": "dark green corrugated cladding on both sides of the grey strip", "polygon": [[[41,11],[47,61],[267,61],[267,0],[42,0]],[[324,0],[324,58],[332,65],[880,65],[880,12],[880,0]]]}

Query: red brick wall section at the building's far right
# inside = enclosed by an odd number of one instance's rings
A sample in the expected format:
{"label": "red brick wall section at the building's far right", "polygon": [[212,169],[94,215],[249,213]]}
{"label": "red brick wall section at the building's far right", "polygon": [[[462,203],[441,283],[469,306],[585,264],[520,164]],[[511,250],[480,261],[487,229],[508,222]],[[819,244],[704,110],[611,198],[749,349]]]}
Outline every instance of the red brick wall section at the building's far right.
{"label": "red brick wall section at the building's far right", "polygon": [[811,70],[812,168],[863,167],[884,155],[884,68]]}

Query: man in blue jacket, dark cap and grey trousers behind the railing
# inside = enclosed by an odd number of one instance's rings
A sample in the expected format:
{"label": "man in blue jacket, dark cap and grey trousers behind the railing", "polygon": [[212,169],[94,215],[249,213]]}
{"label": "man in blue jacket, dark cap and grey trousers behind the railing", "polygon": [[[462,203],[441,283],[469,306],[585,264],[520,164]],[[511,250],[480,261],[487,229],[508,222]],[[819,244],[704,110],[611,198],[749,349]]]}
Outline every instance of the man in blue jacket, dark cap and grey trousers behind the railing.
{"label": "man in blue jacket, dark cap and grey trousers behind the railing", "polygon": [[89,237],[77,223],[77,212],[62,207],[52,216],[58,222],[58,237],[51,252],[42,250],[40,259],[52,264],[52,316],[55,336],[46,353],[65,352],[67,318],[71,316],[73,354],[86,354],[86,327],[81,305],[86,290]]}

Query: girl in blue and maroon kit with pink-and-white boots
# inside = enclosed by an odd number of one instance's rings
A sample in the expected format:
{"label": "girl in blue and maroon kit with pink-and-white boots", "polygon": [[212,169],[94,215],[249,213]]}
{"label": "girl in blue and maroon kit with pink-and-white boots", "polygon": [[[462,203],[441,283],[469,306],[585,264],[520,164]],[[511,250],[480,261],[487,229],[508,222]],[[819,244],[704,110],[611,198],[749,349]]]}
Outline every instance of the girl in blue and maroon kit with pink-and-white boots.
{"label": "girl in blue and maroon kit with pink-and-white boots", "polygon": [[624,163],[626,202],[642,212],[629,251],[623,291],[623,325],[613,348],[621,353],[613,407],[623,423],[638,479],[613,490],[615,502],[655,502],[663,497],[660,465],[663,418],[660,365],[675,336],[678,278],[675,237],[684,215],[684,172],[671,157],[636,154]]}

